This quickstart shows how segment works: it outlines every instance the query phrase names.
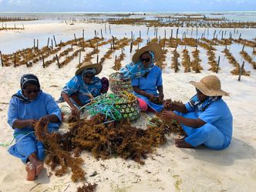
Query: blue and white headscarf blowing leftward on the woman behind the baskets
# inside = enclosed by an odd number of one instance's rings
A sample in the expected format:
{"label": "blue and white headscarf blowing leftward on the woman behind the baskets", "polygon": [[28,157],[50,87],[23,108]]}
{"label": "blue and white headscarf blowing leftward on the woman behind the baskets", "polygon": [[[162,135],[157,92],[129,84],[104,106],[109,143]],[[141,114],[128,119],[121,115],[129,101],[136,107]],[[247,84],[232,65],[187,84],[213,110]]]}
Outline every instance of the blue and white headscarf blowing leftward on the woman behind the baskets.
{"label": "blue and white headscarf blowing leftward on the woman behind the baskets", "polygon": [[130,79],[138,79],[142,76],[144,76],[147,72],[150,72],[150,70],[153,68],[153,62],[155,62],[155,55],[153,52],[149,51],[151,56],[150,66],[147,67],[147,69],[144,68],[142,62],[130,62],[125,67],[120,69],[121,73],[121,79],[124,80],[130,80]]}

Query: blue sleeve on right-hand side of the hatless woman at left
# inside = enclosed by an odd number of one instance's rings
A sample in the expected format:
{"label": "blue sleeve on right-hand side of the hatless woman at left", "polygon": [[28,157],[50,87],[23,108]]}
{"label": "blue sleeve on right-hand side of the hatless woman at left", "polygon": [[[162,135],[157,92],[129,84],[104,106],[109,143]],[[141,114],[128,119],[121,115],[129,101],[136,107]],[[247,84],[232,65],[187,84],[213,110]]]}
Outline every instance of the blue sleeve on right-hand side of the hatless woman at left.
{"label": "blue sleeve on right-hand side of the hatless woman at left", "polygon": [[49,94],[47,94],[45,98],[45,107],[49,115],[56,115],[59,121],[62,121],[62,112],[59,109],[59,106],[56,103],[56,101]]}

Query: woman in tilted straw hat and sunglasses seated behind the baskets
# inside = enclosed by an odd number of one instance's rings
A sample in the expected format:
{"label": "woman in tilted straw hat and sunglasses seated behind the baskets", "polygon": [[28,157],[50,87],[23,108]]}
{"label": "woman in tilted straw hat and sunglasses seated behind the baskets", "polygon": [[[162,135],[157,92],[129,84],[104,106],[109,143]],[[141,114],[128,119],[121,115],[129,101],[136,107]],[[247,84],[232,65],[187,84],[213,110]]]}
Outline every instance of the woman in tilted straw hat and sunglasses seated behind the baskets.
{"label": "woman in tilted straw hat and sunglasses seated behind the baskets", "polygon": [[160,112],[163,109],[162,71],[154,65],[161,56],[161,46],[156,42],[150,43],[136,51],[133,62],[120,70],[123,79],[132,79],[133,93],[138,97],[142,111]]}

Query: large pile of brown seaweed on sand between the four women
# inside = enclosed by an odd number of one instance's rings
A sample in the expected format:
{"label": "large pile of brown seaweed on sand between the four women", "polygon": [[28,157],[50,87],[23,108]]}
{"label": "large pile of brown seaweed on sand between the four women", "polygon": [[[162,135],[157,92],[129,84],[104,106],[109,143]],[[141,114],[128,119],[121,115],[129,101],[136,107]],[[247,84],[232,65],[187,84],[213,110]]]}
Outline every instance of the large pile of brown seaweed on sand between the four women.
{"label": "large pile of brown seaweed on sand between the four women", "polygon": [[76,121],[63,135],[47,133],[47,125],[36,124],[35,134],[45,144],[48,154],[45,163],[56,176],[61,177],[71,170],[74,182],[85,180],[83,159],[79,157],[84,150],[96,159],[122,157],[144,164],[154,147],[167,141],[167,135],[183,134],[177,122],[166,123],[159,118],[154,121],[157,126],[147,126],[146,130],[133,127],[127,121],[103,124],[104,120],[104,116],[96,115],[91,120]]}

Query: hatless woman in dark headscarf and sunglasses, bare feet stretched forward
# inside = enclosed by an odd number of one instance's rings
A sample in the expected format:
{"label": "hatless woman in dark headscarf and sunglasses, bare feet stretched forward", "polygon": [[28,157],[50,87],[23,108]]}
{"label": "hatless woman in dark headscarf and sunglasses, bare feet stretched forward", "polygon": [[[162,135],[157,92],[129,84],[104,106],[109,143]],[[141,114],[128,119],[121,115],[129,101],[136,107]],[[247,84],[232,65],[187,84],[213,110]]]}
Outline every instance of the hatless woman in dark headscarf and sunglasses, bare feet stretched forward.
{"label": "hatless woman in dark headscarf and sunglasses, bare feet stretched forward", "polygon": [[12,96],[8,108],[8,124],[14,130],[15,145],[8,150],[26,163],[27,180],[35,180],[43,167],[45,147],[36,139],[35,123],[48,124],[48,131],[56,131],[62,121],[56,101],[40,89],[33,74],[21,78],[21,90]]}

